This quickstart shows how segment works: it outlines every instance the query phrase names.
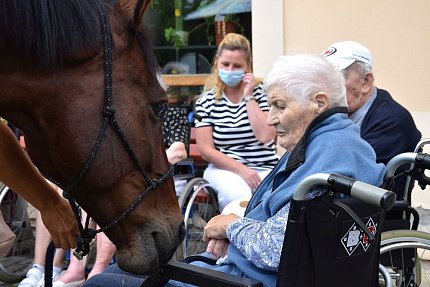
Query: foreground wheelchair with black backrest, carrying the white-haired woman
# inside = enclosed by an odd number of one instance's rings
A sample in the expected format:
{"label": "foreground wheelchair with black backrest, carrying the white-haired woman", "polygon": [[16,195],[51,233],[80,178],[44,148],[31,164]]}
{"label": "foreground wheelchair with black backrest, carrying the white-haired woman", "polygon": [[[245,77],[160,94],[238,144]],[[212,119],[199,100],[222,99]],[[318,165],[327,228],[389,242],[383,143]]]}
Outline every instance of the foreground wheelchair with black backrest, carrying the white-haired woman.
{"label": "foreground wheelchair with black backrest, carrying the white-haired woman", "polygon": [[[315,186],[328,191],[307,199]],[[395,197],[394,192],[336,174],[303,180],[291,202],[277,286],[378,286],[380,235]],[[166,282],[197,286],[262,286],[185,262],[170,262],[160,276]]]}

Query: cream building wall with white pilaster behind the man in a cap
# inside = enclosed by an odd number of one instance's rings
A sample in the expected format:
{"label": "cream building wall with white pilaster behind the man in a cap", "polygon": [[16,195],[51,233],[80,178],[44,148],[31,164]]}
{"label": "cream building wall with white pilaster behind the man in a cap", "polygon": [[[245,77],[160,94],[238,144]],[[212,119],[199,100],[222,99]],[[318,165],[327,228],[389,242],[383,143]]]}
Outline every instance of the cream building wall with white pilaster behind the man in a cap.
{"label": "cream building wall with white pilaster behind the man in a cap", "polygon": [[355,40],[372,53],[376,86],[409,109],[423,136],[430,137],[430,1],[253,0],[252,5],[258,76],[264,77],[279,55],[321,53],[333,42]]}

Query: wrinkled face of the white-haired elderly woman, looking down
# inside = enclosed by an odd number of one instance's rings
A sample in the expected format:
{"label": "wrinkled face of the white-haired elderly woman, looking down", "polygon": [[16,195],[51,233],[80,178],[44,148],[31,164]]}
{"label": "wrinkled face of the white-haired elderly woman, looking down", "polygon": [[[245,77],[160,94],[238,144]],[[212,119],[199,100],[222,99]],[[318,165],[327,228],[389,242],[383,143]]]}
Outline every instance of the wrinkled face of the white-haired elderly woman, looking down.
{"label": "wrinkled face of the white-haired elderly woman, looking down", "polygon": [[268,124],[278,135],[278,144],[291,151],[304,135],[306,128],[318,114],[318,104],[312,99],[302,104],[277,87],[267,91],[270,106]]}

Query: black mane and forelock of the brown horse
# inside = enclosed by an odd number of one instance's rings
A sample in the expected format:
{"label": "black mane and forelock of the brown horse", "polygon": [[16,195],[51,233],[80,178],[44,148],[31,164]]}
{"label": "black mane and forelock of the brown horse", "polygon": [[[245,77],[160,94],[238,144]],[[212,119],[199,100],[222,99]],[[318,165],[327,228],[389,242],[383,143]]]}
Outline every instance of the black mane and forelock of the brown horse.
{"label": "black mane and forelock of the brown horse", "polygon": [[[97,49],[102,45],[98,2],[110,11],[117,1],[0,0],[0,50],[52,67],[63,64],[65,55]],[[146,34],[143,28],[137,31],[145,60],[155,73]]]}

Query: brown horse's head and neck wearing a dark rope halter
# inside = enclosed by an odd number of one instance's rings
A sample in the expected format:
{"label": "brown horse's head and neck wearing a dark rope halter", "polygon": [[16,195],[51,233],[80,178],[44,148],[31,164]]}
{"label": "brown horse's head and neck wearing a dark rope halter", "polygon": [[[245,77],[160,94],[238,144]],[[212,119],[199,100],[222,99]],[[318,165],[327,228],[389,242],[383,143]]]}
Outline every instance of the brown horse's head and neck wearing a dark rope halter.
{"label": "brown horse's head and neck wearing a dark rope halter", "polygon": [[140,21],[149,2],[0,0],[0,115],[40,171],[109,225],[119,266],[135,274],[156,271],[183,238],[166,94]]}

